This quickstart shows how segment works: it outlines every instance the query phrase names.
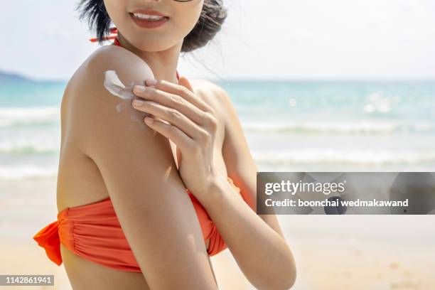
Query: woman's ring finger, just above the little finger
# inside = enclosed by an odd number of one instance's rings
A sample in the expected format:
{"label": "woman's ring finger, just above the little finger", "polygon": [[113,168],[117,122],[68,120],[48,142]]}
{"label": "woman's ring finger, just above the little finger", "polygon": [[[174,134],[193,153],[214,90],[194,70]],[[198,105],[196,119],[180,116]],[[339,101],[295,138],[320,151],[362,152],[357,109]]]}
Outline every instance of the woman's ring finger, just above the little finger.
{"label": "woman's ring finger, just above the little finger", "polygon": [[[139,107],[136,107],[136,109],[139,109]],[[198,124],[192,122],[192,120],[185,115],[181,114],[181,112],[178,112],[176,109],[165,107],[159,103],[144,101],[140,105],[140,110],[142,112],[153,114],[155,117],[178,127],[178,129],[181,129],[181,131],[192,139],[203,140],[206,134],[208,134],[207,131],[199,127]]]}

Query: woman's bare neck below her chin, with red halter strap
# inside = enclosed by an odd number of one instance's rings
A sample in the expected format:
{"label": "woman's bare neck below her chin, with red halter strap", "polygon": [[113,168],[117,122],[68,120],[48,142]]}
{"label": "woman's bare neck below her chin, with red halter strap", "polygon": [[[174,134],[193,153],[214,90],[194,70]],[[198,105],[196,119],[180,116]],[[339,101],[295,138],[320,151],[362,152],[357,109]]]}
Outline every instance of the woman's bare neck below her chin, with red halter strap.
{"label": "woman's bare neck below her chin, with red halter strap", "polygon": [[145,61],[151,68],[154,74],[154,78],[157,80],[166,80],[167,82],[178,83],[176,77],[178,57],[181,52],[181,45],[183,43],[178,43],[173,45],[171,48],[162,51],[149,52],[144,50],[139,50],[134,45],[131,45],[126,38],[118,33],[118,40],[122,47],[131,51],[135,55],[139,56]]}

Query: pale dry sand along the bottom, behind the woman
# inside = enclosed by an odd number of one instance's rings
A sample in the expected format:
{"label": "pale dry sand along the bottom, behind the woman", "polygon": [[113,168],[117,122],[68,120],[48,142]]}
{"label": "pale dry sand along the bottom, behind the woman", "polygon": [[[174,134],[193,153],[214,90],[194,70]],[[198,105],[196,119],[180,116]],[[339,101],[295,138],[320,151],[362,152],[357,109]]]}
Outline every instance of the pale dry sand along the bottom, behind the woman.
{"label": "pale dry sand along the bottom, behind the woman", "polygon": [[[298,266],[296,290],[435,288],[434,244],[416,247],[315,237],[289,240]],[[2,243],[0,247],[0,273],[54,274],[54,288],[32,289],[71,289],[63,265],[58,267],[51,262],[32,241]],[[229,250],[212,257],[212,262],[220,289],[255,289],[242,276]]]}

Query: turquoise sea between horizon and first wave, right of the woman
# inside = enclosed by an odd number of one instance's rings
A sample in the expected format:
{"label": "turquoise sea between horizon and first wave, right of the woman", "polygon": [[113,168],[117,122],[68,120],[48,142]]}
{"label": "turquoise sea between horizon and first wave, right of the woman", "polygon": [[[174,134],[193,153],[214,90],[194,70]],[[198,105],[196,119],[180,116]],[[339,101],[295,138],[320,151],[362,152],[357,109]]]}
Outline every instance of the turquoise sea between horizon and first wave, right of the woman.
{"label": "turquoise sea between horizon and first wave, right of the woman", "polygon": [[[364,131],[352,122],[375,126],[382,131],[391,124],[394,131],[435,129],[435,82],[222,82],[247,119],[267,117],[275,131],[331,130]],[[291,117],[289,117],[291,115]],[[283,120],[311,121],[318,127],[284,127]],[[326,128],[335,121],[337,127]],[[326,123],[325,123],[326,122]],[[306,123],[305,123],[306,125]],[[346,129],[346,130],[345,130]]]}

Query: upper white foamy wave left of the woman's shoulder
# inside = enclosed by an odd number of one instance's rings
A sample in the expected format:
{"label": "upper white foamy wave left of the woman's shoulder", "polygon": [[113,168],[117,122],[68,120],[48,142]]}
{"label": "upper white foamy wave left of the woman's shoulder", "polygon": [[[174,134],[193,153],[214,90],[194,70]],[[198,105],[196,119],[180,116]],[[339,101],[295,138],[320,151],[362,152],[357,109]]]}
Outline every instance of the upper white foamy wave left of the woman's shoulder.
{"label": "upper white foamy wave left of the woman's shoulder", "polygon": [[0,107],[0,128],[59,122],[59,107]]}

